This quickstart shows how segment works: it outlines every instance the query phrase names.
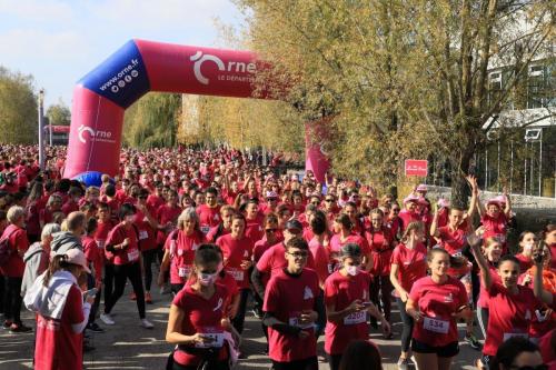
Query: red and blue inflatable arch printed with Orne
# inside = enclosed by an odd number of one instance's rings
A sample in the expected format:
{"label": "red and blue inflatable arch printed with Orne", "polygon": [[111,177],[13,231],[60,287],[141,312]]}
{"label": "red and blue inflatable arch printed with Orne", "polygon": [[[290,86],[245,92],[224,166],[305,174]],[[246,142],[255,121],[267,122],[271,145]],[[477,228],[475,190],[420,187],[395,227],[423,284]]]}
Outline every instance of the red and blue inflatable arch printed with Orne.
{"label": "red and blue inflatable arch printed with Orne", "polygon": [[98,186],[102,173],[118,174],[123,112],[147,92],[254,98],[265,66],[250,51],[128,41],[73,90],[63,176]]}

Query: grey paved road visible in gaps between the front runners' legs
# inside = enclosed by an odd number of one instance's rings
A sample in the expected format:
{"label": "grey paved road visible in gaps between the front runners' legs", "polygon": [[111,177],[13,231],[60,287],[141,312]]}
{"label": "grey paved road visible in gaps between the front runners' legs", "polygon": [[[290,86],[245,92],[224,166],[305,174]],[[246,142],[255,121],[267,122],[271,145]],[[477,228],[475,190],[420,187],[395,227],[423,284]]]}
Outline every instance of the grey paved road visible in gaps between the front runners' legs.
{"label": "grey paved road visible in gaps between the front runners' legs", "polygon": [[[96,350],[85,354],[86,369],[163,369],[170,346],[165,342],[166,322],[170,296],[153,293],[155,304],[149,304],[148,318],[155,323],[153,330],[139,327],[136,303],[128,299],[129,284],[126,296],[117,303],[113,310],[116,326],[106,328],[105,333],[93,334],[91,338]],[[158,290],[158,289],[157,289]],[[29,312],[23,313],[24,322],[32,323]],[[397,320],[397,314],[394,314]],[[99,324],[102,322],[98,320]],[[394,331],[399,333],[401,324],[394,324]],[[261,334],[260,321],[250,312],[246,318],[244,332],[244,350],[248,358],[240,360],[237,369],[269,369],[270,361],[262,354],[265,338]],[[379,346],[383,353],[385,369],[397,369],[395,366],[399,356],[399,334],[393,340],[383,340],[376,331],[373,340]],[[12,334],[0,329],[0,370],[32,369],[33,334]],[[319,341],[320,353],[322,339]],[[461,344],[453,369],[475,369],[470,364],[479,352]],[[328,370],[328,364],[319,363],[319,369]]]}

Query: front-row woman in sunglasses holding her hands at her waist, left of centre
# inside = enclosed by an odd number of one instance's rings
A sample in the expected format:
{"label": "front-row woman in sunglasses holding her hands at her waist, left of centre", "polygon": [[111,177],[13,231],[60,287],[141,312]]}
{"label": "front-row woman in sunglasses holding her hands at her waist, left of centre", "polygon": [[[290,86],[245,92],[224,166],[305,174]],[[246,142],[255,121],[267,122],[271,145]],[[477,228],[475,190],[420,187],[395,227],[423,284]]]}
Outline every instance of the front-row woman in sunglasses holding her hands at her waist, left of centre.
{"label": "front-row woman in sunglasses holding her hands at her waist, left of centre", "polygon": [[230,293],[216,283],[220,263],[221,257],[212,246],[199,246],[195,251],[190,283],[176,294],[170,307],[166,341],[176,349],[167,369],[229,369],[231,338],[226,334],[230,326],[226,312]]}

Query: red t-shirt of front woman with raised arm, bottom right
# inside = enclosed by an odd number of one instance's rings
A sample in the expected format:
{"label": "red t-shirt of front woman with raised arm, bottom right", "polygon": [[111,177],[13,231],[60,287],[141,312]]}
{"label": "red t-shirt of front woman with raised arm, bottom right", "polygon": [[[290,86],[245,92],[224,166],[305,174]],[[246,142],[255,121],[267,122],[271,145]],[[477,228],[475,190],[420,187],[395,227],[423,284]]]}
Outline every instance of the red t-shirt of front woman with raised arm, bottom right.
{"label": "red t-shirt of front woman with raised arm, bottom right", "polygon": [[496,356],[500,343],[512,336],[527,336],[529,324],[539,306],[527,287],[517,286],[519,292],[512,294],[504,286],[493,282],[488,291],[488,328],[483,353]]}

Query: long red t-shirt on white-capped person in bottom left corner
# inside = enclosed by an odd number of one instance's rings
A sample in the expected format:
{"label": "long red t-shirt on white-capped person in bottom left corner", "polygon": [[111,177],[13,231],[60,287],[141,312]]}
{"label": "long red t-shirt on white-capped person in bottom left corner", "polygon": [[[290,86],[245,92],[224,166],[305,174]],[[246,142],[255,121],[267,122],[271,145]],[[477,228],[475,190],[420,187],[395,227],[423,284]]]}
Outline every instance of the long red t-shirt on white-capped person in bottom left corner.
{"label": "long red t-shirt on white-capped person in bottom left corner", "polygon": [[60,320],[37,314],[36,370],[82,369],[83,334],[73,332],[71,328],[72,324],[85,320],[82,302],[81,290],[72,286]]}

